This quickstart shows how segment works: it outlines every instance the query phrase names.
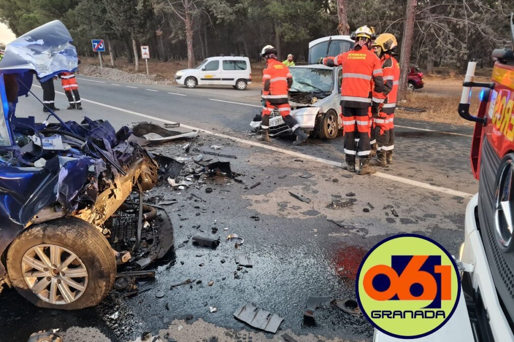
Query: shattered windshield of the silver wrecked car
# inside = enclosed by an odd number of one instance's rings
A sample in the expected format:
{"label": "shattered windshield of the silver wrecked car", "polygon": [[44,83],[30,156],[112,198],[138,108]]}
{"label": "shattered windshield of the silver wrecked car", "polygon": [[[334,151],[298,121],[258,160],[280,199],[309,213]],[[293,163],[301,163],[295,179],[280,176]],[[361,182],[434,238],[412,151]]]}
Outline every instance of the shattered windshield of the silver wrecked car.
{"label": "shattered windshield of the silver wrecked car", "polygon": [[317,68],[289,68],[292,74],[291,91],[329,92],[332,91],[332,70]]}

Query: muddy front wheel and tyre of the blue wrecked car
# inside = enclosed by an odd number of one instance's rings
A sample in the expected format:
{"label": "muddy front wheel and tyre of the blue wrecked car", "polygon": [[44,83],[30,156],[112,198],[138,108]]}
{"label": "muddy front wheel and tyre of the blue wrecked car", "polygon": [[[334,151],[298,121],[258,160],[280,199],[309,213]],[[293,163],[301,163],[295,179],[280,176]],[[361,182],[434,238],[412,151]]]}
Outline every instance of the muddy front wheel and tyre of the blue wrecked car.
{"label": "muddy front wheel and tyre of the blue wrecked car", "polygon": [[12,242],[6,261],[13,287],[40,308],[96,306],[116,280],[107,239],[94,225],[73,217],[29,227]]}

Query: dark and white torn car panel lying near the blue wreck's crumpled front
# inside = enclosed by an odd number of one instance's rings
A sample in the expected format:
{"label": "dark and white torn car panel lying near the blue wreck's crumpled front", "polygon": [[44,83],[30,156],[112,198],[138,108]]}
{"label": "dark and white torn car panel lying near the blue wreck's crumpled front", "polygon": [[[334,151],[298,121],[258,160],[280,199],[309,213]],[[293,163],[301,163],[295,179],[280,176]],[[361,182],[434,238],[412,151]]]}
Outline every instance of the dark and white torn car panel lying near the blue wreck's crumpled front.
{"label": "dark and white torn car panel lying near the blue wreck's crumpled front", "polygon": [[197,135],[198,132],[196,131],[180,133],[162,128],[156,124],[140,122],[132,127],[132,135],[128,138],[128,141],[135,141],[139,144],[139,146],[151,146],[170,142],[173,140],[194,138]]}

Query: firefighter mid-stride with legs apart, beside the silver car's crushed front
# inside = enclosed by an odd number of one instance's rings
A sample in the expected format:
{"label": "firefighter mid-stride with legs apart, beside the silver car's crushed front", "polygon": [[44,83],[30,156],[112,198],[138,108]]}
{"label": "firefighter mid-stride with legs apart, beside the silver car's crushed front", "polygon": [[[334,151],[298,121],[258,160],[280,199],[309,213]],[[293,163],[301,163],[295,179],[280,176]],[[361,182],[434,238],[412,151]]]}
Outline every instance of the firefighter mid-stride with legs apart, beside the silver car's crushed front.
{"label": "firefighter mid-stride with legs apart, beside the silver car's crushed front", "polygon": [[279,108],[279,112],[289,128],[296,134],[296,141],[293,145],[300,145],[309,137],[300,128],[295,118],[289,115],[289,99],[287,93],[292,85],[292,75],[289,68],[277,60],[277,49],[271,45],[266,45],[261,55],[266,60],[266,68],[262,76],[262,98],[264,108],[262,110],[262,134],[257,137],[259,141],[269,142],[269,116],[274,107]]}

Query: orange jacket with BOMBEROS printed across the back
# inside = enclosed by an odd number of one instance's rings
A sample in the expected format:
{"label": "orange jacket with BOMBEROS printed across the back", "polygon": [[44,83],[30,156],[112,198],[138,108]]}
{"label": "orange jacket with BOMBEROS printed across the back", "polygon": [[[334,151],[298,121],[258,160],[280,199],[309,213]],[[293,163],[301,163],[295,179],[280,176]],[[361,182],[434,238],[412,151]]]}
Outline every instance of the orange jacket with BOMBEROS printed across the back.
{"label": "orange jacket with BOMBEROS printed across the back", "polygon": [[341,106],[366,108],[371,106],[371,92],[383,90],[380,60],[367,47],[343,52],[334,58],[323,59],[327,66],[341,65]]}

